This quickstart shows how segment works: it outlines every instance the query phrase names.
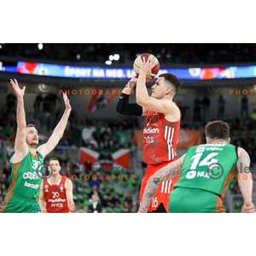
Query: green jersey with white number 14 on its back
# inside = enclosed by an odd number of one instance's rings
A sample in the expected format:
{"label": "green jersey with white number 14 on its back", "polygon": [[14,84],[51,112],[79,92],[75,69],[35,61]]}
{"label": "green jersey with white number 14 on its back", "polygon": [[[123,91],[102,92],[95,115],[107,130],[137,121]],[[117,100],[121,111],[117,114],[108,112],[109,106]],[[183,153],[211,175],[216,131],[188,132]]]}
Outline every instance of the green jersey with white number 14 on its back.
{"label": "green jersey with white number 14 on its back", "polygon": [[203,189],[223,195],[236,168],[237,148],[230,144],[193,146],[186,152],[175,187]]}

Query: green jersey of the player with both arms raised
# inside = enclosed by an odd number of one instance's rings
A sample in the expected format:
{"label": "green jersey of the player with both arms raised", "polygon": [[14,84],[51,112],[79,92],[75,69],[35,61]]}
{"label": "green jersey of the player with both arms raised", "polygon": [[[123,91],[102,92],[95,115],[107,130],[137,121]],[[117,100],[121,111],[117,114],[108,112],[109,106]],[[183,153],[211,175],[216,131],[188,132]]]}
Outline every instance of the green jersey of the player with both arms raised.
{"label": "green jersey of the player with both arms raised", "polygon": [[[12,201],[37,201],[40,195],[41,178],[36,171],[39,165],[44,163],[44,157],[37,152],[34,157],[30,152],[26,154],[20,163],[11,163],[11,184],[6,195],[3,208],[12,205]],[[9,204],[11,203],[11,204]],[[3,210],[3,209],[2,209]]]}

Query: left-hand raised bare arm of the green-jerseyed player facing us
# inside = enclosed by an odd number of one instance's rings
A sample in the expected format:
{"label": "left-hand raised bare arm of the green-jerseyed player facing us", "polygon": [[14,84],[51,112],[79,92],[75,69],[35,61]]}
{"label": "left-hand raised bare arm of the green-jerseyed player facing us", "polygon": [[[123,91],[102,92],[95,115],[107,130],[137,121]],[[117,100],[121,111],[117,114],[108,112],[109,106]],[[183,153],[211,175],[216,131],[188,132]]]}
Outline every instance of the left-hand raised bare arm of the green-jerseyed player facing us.
{"label": "left-hand raised bare arm of the green-jerseyed player facing us", "polygon": [[15,137],[14,151],[15,154],[12,156],[11,162],[20,162],[28,153],[28,145],[26,143],[26,114],[24,108],[24,93],[26,87],[20,86],[16,79],[10,79],[10,84],[17,97],[17,133]]}

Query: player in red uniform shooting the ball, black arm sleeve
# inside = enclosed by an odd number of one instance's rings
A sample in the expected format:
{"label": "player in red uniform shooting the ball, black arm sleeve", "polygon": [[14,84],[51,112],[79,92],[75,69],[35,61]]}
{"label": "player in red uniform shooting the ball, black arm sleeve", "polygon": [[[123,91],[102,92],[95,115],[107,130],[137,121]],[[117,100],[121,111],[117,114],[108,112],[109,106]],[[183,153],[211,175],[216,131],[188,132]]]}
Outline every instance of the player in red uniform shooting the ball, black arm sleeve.
{"label": "player in red uniform shooting the ball, black arm sleeve", "polygon": [[[152,95],[149,96],[146,88],[146,75],[151,73],[151,68],[149,58],[148,60],[144,58],[139,77],[130,80],[130,86],[125,87],[116,107],[116,110],[122,114],[145,116],[143,151],[147,169],[141,183],[140,201],[151,175],[177,158],[177,140],[180,131],[180,110],[173,101],[180,82],[172,74],[162,74],[151,87]],[[129,104],[129,94],[136,84],[137,104]],[[178,177],[175,177],[160,183],[148,212],[168,212],[170,192],[177,180]]]}

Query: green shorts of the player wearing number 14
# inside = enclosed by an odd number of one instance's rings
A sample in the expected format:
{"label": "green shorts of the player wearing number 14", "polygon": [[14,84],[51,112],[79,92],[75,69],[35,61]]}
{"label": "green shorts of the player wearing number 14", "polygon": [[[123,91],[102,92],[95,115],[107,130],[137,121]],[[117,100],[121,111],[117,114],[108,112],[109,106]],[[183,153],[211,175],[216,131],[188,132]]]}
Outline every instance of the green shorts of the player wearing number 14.
{"label": "green shorts of the player wearing number 14", "polygon": [[225,212],[222,198],[202,189],[176,187],[170,196],[169,212]]}

